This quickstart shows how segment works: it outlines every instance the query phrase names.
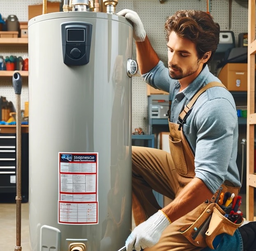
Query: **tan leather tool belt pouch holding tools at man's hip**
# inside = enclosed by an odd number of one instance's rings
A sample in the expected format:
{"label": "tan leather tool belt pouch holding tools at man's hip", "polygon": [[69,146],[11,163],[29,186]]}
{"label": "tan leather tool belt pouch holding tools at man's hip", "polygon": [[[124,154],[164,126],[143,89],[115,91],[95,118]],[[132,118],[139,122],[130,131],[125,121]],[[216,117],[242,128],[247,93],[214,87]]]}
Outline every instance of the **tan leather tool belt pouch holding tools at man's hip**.
{"label": "tan leather tool belt pouch holding tools at man's hip", "polygon": [[[203,212],[199,212],[196,221],[183,226],[180,233],[195,246],[216,249],[221,241],[221,234],[226,233],[232,236],[244,221],[242,212],[239,210],[241,197],[237,195],[238,191],[239,188],[222,185],[217,196],[205,202],[205,208]],[[228,193],[233,194],[232,200],[224,198]],[[219,238],[215,239],[217,236]]]}

